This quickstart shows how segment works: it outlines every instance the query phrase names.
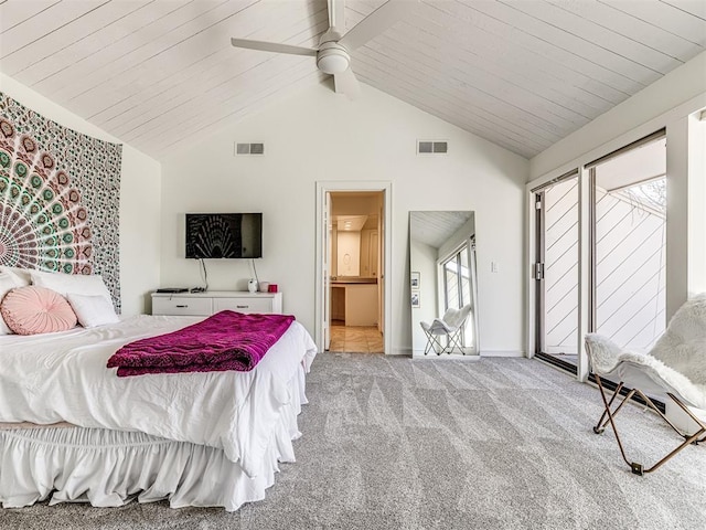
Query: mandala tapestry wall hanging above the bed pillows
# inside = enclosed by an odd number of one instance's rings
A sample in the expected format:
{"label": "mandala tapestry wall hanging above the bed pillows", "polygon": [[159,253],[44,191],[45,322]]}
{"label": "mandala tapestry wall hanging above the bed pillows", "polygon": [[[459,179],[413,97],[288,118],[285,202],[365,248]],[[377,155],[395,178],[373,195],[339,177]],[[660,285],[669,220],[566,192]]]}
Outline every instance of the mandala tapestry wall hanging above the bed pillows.
{"label": "mandala tapestry wall hanging above the bed pillows", "polygon": [[0,265],[100,274],[119,310],[121,152],[0,93]]}

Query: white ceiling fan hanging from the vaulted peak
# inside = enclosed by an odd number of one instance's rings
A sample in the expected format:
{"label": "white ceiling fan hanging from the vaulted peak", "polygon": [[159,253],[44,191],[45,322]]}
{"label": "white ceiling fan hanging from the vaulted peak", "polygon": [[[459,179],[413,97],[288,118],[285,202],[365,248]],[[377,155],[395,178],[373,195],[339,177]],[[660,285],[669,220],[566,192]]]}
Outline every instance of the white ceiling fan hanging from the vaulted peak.
{"label": "white ceiling fan hanging from the vaulted peak", "polygon": [[235,47],[264,52],[315,56],[317,67],[323,73],[333,75],[335,92],[354,99],[360,94],[360,87],[355,74],[351,70],[349,52],[362,46],[391,25],[407,18],[414,12],[418,1],[388,0],[344,35],[341,34],[341,31],[344,28],[345,0],[328,0],[328,2],[329,29],[321,35],[317,49],[248,39],[231,39],[231,44]]}

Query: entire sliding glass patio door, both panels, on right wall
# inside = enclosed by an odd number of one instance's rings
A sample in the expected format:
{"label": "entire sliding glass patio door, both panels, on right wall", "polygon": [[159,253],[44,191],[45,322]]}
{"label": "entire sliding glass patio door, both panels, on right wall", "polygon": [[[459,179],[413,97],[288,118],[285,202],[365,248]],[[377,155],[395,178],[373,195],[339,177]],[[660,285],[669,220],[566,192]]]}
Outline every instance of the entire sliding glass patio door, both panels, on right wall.
{"label": "entire sliding glass patio door, both panels, on right wall", "polygon": [[586,332],[633,351],[664,332],[666,183],[660,130],[531,190],[537,358],[585,379]]}

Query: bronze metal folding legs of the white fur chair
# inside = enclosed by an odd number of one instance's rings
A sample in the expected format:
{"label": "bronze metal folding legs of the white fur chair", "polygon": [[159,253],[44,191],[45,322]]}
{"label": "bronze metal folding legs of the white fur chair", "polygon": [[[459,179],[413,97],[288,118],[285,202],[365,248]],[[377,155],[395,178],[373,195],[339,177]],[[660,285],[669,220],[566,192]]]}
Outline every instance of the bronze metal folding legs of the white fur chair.
{"label": "bronze metal folding legs of the white fur chair", "polygon": [[[612,403],[616,400],[616,396],[620,393],[620,390],[623,386],[622,381],[620,382],[620,384],[618,385],[618,388],[616,389],[616,392],[613,393],[612,398],[610,399],[610,401],[608,401],[608,398],[606,396],[606,390],[603,389],[603,385],[601,383],[600,377],[596,375],[596,382],[598,383],[598,389],[600,390],[600,395],[601,399],[603,401],[603,413],[600,417],[600,420],[598,421],[598,423],[596,424],[596,426],[593,427],[593,432],[597,434],[600,434],[605,431],[606,426],[608,425],[608,423],[610,423],[610,426],[613,430],[613,433],[616,434],[616,441],[618,442],[618,447],[620,448],[620,454],[622,455],[622,459],[625,460],[625,464],[628,464],[630,466],[630,469],[633,474],[635,475],[644,475],[645,473],[652,473],[654,470],[656,470],[657,468],[660,468],[664,463],[666,463],[667,460],[670,460],[673,456],[675,456],[678,452],[681,452],[684,447],[691,445],[691,444],[698,444],[700,442],[704,442],[704,439],[706,439],[706,424],[700,421],[698,417],[696,417],[692,411],[688,410],[688,407],[686,405],[684,405],[684,403],[682,403],[674,394],[667,393],[667,395],[692,418],[694,420],[694,422],[696,422],[696,424],[700,427],[698,428],[694,434],[692,435],[683,435],[680,433],[680,431],[676,428],[676,426],[674,426],[674,424],[662,413],[662,411],[660,411],[657,409],[657,406],[654,404],[654,402],[648,398],[643,392],[641,392],[639,389],[632,389],[628,395],[625,398],[622,399],[622,401],[620,402],[620,404],[618,405],[618,407],[616,407],[614,410],[611,410]],[[644,466],[642,464],[635,463],[635,462],[630,462],[628,459],[628,457],[625,456],[625,451],[623,448],[622,445],[622,441],[620,439],[620,434],[618,433],[618,430],[616,428],[616,422],[614,422],[614,416],[618,414],[618,412],[620,412],[620,409],[622,409],[622,406],[625,404],[625,402],[632,398],[633,394],[638,394],[640,398],[642,398],[645,403],[648,404],[648,406],[650,409],[652,409],[654,412],[657,413],[657,415],[664,420],[680,436],[684,437],[684,441],[676,446],[673,451],[671,451],[668,454],[666,454],[664,457],[662,457],[660,460],[657,460],[656,464],[654,464],[652,467],[645,469]],[[607,417],[607,420],[606,420]]]}

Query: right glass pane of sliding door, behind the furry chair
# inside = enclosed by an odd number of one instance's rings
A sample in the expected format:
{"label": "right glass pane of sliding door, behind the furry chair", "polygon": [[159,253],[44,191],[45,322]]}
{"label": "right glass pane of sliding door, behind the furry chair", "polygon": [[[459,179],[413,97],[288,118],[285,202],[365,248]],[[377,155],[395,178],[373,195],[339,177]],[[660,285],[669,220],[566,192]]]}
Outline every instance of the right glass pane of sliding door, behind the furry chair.
{"label": "right glass pane of sliding door, behind the furry chair", "polygon": [[665,329],[664,134],[593,163],[590,178],[590,328],[623,348],[650,349]]}

